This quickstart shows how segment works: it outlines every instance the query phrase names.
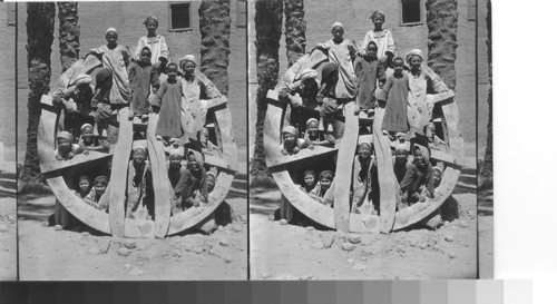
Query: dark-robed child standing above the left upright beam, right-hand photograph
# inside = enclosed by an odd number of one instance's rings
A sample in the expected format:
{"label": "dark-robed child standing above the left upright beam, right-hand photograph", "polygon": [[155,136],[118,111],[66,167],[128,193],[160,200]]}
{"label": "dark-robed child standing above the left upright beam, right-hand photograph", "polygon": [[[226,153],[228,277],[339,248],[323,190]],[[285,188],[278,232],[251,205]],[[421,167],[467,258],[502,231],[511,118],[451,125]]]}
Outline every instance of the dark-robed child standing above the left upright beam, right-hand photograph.
{"label": "dark-robed child standing above the left upright beam, right-hand photograph", "polygon": [[378,60],[378,46],[374,41],[368,43],[367,51],[362,57],[354,60],[354,73],[358,84],[358,108],[356,112],[372,112],[375,108],[375,89],[381,89],[387,76],[384,67]]}

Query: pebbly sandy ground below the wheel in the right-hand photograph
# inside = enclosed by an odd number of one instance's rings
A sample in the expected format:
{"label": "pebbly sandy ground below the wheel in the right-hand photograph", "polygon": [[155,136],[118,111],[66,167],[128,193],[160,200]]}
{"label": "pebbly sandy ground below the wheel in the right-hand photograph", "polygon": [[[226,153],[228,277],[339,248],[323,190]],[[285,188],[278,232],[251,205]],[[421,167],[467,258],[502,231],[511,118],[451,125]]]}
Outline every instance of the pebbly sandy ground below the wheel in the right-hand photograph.
{"label": "pebbly sandy ground below the wheel in the right-hand photograph", "polygon": [[278,208],[280,192],[252,194],[251,277],[476,278],[478,238],[473,173],[475,169],[465,169],[453,192],[459,218],[437,231],[356,235],[319,231],[313,226],[281,225],[270,219]]}

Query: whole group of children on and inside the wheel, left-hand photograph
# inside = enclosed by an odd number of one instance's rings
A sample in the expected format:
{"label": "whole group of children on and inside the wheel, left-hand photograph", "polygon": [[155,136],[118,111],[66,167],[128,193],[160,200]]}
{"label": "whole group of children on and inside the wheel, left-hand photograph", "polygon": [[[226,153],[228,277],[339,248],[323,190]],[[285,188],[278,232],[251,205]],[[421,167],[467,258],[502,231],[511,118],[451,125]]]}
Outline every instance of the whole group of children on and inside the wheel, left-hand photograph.
{"label": "whole group of children on and inside the wheel, left-hand photograph", "polygon": [[[65,130],[57,133],[55,156],[63,161],[90,150],[108,153],[108,122],[114,110],[129,108],[129,119],[143,121],[150,112],[158,114],[157,139],[174,146],[167,169],[174,193],[173,214],[176,214],[207,203],[208,193],[215,186],[216,169],[203,167],[203,154],[222,151],[209,140],[204,100],[218,99],[222,95],[211,80],[196,71],[193,55],[183,57],[179,65],[170,61],[165,38],[156,33],[155,16],[147,17],[144,24],[147,35],[139,39],[135,52],[118,43],[115,28],[106,31],[106,45],[90,50],[87,56],[95,56],[101,62],[101,68],[94,72],[95,88],[91,76],[85,73],[71,75],[69,84],[59,81],[52,104],[65,110]],[[137,131],[134,139],[136,137],[145,138]],[[186,165],[182,165],[184,154],[177,149],[182,145],[188,151]],[[146,148],[135,147],[128,164],[127,218],[154,218],[150,170]],[[77,196],[108,212],[108,203],[99,203],[102,195],[109,193],[106,176],[96,177],[92,184],[87,176],[80,176],[77,182]]]}

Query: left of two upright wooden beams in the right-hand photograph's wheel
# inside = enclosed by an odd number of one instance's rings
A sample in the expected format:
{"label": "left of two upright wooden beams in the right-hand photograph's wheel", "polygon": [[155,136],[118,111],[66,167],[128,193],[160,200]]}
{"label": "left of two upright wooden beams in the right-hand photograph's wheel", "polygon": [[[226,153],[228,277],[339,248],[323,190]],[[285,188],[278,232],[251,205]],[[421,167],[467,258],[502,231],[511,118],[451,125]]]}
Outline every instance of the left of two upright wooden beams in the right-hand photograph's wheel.
{"label": "left of two upright wooden beams in the right-hand photograph's wheel", "polygon": [[354,163],[355,146],[358,145],[358,116],[354,115],[355,102],[345,105],[346,124],[344,136],[336,160],[334,175],[334,225],[336,231],[350,231],[350,189],[352,185],[352,167]]}

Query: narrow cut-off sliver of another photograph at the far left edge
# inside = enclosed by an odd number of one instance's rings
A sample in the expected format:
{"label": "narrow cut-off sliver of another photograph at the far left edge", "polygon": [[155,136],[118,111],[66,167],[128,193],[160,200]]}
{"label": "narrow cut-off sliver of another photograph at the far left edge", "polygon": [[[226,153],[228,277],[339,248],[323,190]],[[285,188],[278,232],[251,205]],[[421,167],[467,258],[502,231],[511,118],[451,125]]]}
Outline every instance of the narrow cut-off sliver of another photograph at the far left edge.
{"label": "narrow cut-off sliver of another photograph at the far left edge", "polygon": [[18,278],[16,217],[16,4],[0,3],[0,281]]}

